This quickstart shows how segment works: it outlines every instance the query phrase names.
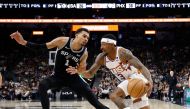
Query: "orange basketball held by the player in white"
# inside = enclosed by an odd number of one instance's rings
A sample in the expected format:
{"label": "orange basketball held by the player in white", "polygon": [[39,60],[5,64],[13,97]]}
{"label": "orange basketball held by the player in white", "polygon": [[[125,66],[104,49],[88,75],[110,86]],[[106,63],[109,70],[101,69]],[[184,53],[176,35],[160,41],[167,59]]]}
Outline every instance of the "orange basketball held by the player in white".
{"label": "orange basketball held by the player in white", "polygon": [[133,98],[140,98],[146,94],[146,84],[142,79],[133,78],[129,80],[127,91]]}

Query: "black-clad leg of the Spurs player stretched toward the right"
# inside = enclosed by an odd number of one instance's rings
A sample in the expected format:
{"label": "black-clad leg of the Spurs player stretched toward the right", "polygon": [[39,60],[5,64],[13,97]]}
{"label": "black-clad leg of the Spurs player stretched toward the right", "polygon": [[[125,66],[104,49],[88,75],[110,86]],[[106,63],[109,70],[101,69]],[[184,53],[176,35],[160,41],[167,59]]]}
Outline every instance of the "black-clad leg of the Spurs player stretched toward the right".
{"label": "black-clad leg of the Spurs player stretched toward the right", "polygon": [[92,92],[90,86],[81,78],[76,78],[74,81],[72,81],[70,88],[85,97],[96,109],[109,109],[98,101],[98,98]]}

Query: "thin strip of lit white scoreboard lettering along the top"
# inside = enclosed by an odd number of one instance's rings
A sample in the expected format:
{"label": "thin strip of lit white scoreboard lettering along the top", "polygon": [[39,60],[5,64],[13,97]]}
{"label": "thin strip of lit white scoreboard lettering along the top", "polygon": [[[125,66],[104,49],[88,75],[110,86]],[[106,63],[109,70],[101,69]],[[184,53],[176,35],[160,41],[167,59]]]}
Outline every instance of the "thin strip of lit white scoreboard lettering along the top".
{"label": "thin strip of lit white scoreboard lettering along the top", "polygon": [[1,3],[0,8],[115,9],[190,8],[189,3]]}

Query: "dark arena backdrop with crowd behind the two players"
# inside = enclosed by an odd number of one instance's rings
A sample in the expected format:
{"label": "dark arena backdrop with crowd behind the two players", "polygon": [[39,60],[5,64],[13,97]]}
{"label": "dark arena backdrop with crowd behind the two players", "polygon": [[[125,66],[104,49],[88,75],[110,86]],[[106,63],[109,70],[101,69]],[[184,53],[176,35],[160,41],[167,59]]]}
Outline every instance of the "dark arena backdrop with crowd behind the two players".
{"label": "dark arena backdrop with crowd behind the two players", "polygon": [[[77,7],[77,3],[83,4]],[[93,6],[86,7],[84,4]],[[11,40],[9,35],[12,32],[18,30],[26,40],[44,43],[58,36],[73,37],[74,26],[82,25],[91,28],[88,67],[101,52],[101,37],[112,33],[117,36],[119,46],[130,49],[151,71],[154,89],[150,98],[187,105],[190,101],[189,11],[190,3],[175,0],[153,3],[124,0],[0,1],[0,72],[4,81],[0,98],[38,100],[39,80],[53,71],[54,56],[51,53],[55,49],[37,54]],[[155,21],[157,18],[159,20]],[[91,21],[92,19],[96,20]],[[121,19],[125,20],[120,21]],[[167,19],[170,20],[166,21]],[[61,21],[56,22],[59,20]],[[153,33],[145,34],[145,31],[150,30]],[[43,34],[34,35],[33,31],[41,31]],[[170,71],[174,71],[177,78],[176,95],[172,96],[172,101],[167,96]],[[108,92],[118,84],[117,79],[108,72],[102,67],[95,78],[87,80],[99,98],[108,97]],[[60,90],[49,91],[51,99],[82,99],[66,88],[61,90],[62,96],[59,98],[56,92],[60,93]]]}

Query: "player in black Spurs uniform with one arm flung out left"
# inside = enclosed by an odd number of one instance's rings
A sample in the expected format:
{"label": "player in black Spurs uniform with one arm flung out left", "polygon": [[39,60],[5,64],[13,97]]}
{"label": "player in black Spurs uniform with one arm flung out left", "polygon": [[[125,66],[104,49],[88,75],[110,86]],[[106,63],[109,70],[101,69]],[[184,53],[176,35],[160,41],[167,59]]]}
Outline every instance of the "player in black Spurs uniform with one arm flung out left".
{"label": "player in black Spurs uniform with one arm flung out left", "polygon": [[70,75],[66,72],[66,69],[69,66],[77,67],[79,72],[83,72],[86,69],[88,52],[85,45],[90,37],[87,29],[78,29],[75,33],[74,39],[69,37],[58,37],[44,44],[36,44],[26,41],[18,31],[12,33],[10,36],[12,39],[15,39],[17,43],[34,50],[47,50],[54,47],[58,48],[54,74],[42,80],[38,88],[43,109],[49,109],[47,90],[63,86],[69,87],[81,94],[96,109],[108,109],[97,100],[89,85],[85,83],[78,74]]}

